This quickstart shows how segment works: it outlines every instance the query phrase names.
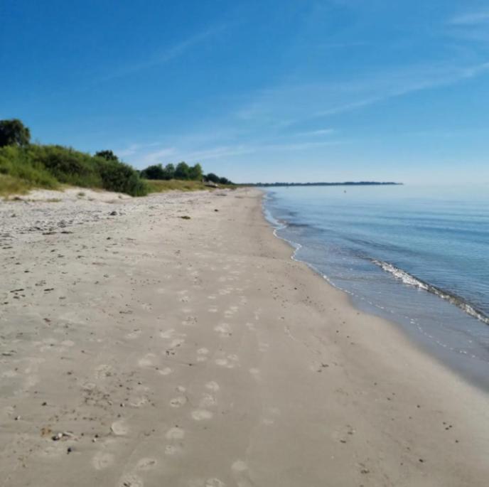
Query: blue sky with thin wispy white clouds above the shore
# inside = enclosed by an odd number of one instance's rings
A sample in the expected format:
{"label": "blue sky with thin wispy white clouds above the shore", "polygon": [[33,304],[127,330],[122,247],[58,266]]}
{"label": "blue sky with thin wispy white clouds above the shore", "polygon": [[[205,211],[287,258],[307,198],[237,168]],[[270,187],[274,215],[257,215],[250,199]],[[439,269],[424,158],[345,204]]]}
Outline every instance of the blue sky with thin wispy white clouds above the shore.
{"label": "blue sky with thin wispy white clouds above the shore", "polygon": [[489,183],[489,0],[0,3],[0,119],[235,182]]}

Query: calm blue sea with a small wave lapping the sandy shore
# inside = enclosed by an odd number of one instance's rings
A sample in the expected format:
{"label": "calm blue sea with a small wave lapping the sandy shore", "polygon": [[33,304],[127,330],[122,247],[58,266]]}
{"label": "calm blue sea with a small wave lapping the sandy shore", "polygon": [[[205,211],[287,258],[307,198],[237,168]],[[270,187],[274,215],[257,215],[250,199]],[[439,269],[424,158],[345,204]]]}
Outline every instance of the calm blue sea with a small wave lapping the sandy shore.
{"label": "calm blue sea with a small wave lapping the sandy shore", "polygon": [[268,188],[264,210],[296,259],[489,390],[489,186]]}

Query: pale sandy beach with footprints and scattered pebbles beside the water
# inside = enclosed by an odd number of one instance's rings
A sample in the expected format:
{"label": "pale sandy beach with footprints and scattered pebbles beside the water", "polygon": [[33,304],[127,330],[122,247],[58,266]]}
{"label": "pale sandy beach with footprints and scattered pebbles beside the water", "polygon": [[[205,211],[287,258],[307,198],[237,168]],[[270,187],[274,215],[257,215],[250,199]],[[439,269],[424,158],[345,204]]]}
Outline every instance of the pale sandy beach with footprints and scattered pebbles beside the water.
{"label": "pale sandy beach with footprints and scattered pebbles beside the water", "polygon": [[81,192],[0,203],[1,486],[488,485],[488,395],[292,260],[259,191]]}

